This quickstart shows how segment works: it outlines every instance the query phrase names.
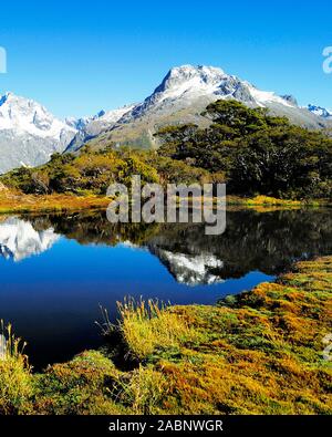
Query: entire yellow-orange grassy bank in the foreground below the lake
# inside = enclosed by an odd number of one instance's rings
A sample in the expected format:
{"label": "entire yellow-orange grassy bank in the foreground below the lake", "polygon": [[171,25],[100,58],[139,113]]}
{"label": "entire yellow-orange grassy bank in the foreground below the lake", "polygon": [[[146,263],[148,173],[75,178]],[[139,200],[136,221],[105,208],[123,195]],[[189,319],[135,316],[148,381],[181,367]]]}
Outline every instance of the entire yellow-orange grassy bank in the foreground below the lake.
{"label": "entire yellow-orange grassy bank in the foreground below the lake", "polygon": [[0,410],[332,414],[332,368],[323,358],[331,290],[328,257],[215,306],[127,301],[115,331],[105,326],[118,335],[116,347],[42,374],[31,374],[21,354],[0,361]]}

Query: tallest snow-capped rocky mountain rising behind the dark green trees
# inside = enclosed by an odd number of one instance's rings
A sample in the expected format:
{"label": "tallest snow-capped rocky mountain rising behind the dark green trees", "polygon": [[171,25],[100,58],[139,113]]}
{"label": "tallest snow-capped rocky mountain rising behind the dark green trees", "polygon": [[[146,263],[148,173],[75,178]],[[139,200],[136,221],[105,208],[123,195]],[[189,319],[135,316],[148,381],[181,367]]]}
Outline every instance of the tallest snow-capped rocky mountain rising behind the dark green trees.
{"label": "tallest snow-capped rocky mountain rising behind the dark green trees", "polygon": [[[91,144],[157,146],[154,134],[163,126],[179,123],[208,125],[201,112],[217,100],[237,100],[250,107],[266,107],[272,115],[287,116],[308,128],[322,128],[326,121],[298,105],[291,95],[278,96],[214,66],[184,65],[172,69],[143,103],[134,105]],[[105,126],[104,126],[105,128]],[[92,137],[90,138],[92,139]],[[72,150],[74,147],[72,147]]]}

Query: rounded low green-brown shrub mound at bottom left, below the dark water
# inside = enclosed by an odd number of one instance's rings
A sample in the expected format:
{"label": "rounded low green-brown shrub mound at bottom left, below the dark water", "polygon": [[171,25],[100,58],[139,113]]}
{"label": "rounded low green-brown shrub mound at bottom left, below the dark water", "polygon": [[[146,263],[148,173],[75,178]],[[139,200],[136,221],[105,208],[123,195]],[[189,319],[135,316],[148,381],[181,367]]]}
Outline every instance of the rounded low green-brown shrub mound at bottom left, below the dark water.
{"label": "rounded low green-brown shrub mound at bottom left, below the dark water", "polygon": [[55,364],[34,376],[38,414],[125,414],[112,398],[120,384],[114,364],[96,351],[84,352],[65,364]]}

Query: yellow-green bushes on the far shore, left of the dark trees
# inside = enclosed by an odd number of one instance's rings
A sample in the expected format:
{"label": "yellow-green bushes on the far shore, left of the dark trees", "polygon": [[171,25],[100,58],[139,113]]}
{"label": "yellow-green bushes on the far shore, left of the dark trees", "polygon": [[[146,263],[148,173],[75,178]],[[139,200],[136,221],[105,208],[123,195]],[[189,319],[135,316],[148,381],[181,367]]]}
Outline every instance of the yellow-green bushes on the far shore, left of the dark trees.
{"label": "yellow-green bushes on the far shore, left of the dark trees", "polygon": [[79,156],[54,154],[40,167],[14,169],[3,175],[1,181],[25,195],[105,196],[113,183],[129,186],[132,175],[141,175],[143,184],[159,181],[157,170],[134,152],[93,153],[85,147]]}

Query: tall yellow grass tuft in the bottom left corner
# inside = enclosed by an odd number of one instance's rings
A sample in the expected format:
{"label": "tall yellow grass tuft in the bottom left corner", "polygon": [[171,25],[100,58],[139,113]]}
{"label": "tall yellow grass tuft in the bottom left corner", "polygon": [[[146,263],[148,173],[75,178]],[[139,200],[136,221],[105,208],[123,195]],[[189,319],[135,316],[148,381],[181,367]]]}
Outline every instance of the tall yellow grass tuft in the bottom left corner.
{"label": "tall yellow grass tuft in the bottom left corner", "polygon": [[15,339],[11,325],[1,321],[0,334],[7,339],[6,352],[0,357],[0,414],[29,413],[32,377],[24,343]]}

